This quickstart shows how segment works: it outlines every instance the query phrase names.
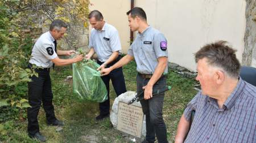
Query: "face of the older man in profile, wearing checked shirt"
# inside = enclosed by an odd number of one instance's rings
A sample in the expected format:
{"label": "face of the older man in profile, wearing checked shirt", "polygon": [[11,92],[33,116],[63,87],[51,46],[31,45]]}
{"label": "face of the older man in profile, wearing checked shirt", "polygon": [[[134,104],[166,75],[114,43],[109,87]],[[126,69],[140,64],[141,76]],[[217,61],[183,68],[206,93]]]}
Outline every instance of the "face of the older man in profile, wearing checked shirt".
{"label": "face of the older man in profile, wearing checked shirt", "polygon": [[217,89],[217,83],[214,79],[216,69],[209,66],[207,59],[203,58],[197,62],[197,72],[196,80],[200,82],[202,93],[210,97],[214,96]]}

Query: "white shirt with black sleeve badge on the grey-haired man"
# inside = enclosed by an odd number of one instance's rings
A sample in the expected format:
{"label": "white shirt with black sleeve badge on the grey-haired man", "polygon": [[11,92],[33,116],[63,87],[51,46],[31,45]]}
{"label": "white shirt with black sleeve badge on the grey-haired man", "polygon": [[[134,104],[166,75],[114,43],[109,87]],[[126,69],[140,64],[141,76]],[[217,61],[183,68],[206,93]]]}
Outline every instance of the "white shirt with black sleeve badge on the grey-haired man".
{"label": "white shirt with black sleeve badge on the grey-haired man", "polygon": [[38,67],[49,68],[52,66],[51,59],[57,57],[51,33],[43,33],[36,41],[31,54],[30,63]]}

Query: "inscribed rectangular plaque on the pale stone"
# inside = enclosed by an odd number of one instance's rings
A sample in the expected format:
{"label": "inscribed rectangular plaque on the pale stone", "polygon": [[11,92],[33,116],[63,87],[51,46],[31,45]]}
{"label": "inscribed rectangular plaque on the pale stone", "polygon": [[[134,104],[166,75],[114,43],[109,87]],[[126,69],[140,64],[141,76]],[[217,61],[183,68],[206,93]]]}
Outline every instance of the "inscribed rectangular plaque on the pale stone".
{"label": "inscribed rectangular plaque on the pale stone", "polygon": [[118,103],[117,129],[129,135],[141,138],[143,122],[142,108],[135,105]]}

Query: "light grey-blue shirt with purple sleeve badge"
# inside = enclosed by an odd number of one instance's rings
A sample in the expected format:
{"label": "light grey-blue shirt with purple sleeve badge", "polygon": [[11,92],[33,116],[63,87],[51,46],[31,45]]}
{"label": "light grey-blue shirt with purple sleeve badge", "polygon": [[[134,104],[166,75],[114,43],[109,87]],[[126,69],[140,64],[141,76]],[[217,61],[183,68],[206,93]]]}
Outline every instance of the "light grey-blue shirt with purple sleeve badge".
{"label": "light grey-blue shirt with purple sleeve badge", "polygon": [[[159,57],[168,57],[167,40],[158,30],[147,27],[131,44],[128,54],[137,63],[137,71],[143,74],[153,74],[158,65]],[[168,67],[164,73],[168,72]]]}

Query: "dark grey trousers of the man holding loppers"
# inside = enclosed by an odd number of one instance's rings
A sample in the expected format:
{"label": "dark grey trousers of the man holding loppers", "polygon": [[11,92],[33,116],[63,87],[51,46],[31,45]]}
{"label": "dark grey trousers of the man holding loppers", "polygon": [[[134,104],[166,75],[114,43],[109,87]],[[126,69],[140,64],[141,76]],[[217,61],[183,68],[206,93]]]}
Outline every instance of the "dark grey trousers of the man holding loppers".
{"label": "dark grey trousers of the man holding loppers", "polygon": [[[145,79],[141,75],[137,75],[137,93],[142,93],[143,86],[146,86],[150,79]],[[166,76],[160,77],[160,79],[153,86],[153,92],[159,89],[163,89],[166,86]],[[158,138],[159,143],[166,143],[166,124],[163,120],[163,101],[164,93],[160,93],[153,98],[147,100],[141,100],[142,111],[146,115],[146,140],[150,142],[155,141]]]}

